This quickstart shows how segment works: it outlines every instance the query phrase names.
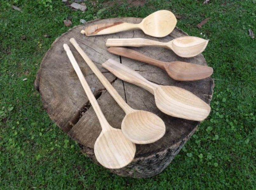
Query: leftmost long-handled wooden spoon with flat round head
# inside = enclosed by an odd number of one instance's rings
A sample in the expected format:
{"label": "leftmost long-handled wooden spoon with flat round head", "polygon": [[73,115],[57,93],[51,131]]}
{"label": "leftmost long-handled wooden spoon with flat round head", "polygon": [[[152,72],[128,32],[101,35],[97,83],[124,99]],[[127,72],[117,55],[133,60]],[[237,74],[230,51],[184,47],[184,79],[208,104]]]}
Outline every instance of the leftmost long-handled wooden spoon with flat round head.
{"label": "leftmost long-handled wooden spoon with flat round head", "polygon": [[128,165],[134,158],[135,144],[129,141],[120,129],[115,129],[108,124],[71,50],[67,44],[64,44],[63,47],[100,121],[102,131],[94,144],[94,154],[97,160],[102,166],[111,169]]}

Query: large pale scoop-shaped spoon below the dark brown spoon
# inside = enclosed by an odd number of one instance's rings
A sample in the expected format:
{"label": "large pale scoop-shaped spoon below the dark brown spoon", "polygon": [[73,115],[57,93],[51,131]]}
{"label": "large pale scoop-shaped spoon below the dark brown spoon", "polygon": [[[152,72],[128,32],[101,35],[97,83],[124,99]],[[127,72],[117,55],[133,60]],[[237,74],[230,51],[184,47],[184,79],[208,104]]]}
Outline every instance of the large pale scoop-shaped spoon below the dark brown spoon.
{"label": "large pale scoop-shaped spoon below the dark brown spoon", "polygon": [[183,88],[152,83],[129,67],[111,59],[103,63],[102,66],[118,78],[138,85],[152,93],[155,96],[158,109],[167,115],[202,121],[211,111],[208,104]]}

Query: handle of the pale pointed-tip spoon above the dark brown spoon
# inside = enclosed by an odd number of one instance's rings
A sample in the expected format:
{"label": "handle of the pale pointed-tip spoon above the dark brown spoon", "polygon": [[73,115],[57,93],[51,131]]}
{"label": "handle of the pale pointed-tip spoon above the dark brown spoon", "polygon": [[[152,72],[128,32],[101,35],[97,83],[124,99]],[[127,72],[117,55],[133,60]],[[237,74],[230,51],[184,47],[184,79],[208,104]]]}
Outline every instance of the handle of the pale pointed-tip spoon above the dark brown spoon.
{"label": "handle of the pale pointed-tip spoon above the dark brown spoon", "polygon": [[132,46],[132,47],[142,47],[142,46],[156,46],[163,47],[166,46],[165,43],[160,41],[154,41],[144,38],[109,38],[106,42],[107,47],[117,47],[117,46]]}

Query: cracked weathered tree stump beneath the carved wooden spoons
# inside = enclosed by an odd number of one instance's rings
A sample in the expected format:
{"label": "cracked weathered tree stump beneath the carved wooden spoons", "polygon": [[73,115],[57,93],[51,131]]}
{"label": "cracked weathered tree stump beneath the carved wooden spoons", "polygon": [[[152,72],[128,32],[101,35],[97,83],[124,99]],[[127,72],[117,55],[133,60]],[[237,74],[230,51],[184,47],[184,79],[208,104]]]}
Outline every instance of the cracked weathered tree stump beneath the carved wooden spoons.
{"label": "cracked weathered tree stump beneath the carved wooden spoons", "polygon": [[[139,23],[141,20],[141,18],[95,20],[70,29],[53,42],[42,60],[35,80],[35,87],[39,90],[44,108],[51,119],[71,138],[80,143],[82,151],[92,158],[94,162],[97,162],[97,160],[94,156],[93,146],[101,131],[100,123],[63,49],[64,43],[70,46],[109,124],[115,128],[121,128],[121,121],[125,113],[69,42],[71,37],[76,39],[128,105],[134,109],[153,112],[161,117],[166,125],[166,134],[163,138],[151,144],[136,144],[136,154],[133,162],[124,168],[111,170],[118,175],[136,178],[151,177],[162,172],[175,155],[178,154],[190,136],[193,135],[200,122],[171,117],[162,113],[157,109],[152,94],[138,86],[117,79],[112,73],[104,69],[101,64],[112,58],[139,72],[150,81],[161,85],[182,87],[194,93],[208,104],[211,102],[214,87],[211,78],[189,82],[175,81],[158,67],[110,54],[105,46],[108,38],[147,38],[167,42],[173,38],[187,35],[178,28],[175,28],[170,35],[164,38],[150,37],[140,30],[89,37],[80,34],[81,29],[86,25],[106,22]],[[162,61],[180,60],[206,65],[202,54],[193,58],[181,58],[171,50],[160,47],[139,47],[133,49]]]}

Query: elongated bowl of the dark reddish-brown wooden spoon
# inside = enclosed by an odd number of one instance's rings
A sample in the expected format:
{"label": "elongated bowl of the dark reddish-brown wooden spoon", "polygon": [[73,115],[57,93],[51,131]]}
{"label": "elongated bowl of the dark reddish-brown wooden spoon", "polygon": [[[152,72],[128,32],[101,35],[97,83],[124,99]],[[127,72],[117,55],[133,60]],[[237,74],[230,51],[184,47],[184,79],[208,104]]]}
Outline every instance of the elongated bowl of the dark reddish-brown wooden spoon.
{"label": "elongated bowl of the dark reddish-brown wooden spoon", "polygon": [[213,68],[204,65],[197,65],[183,61],[174,61],[166,64],[165,70],[168,75],[181,81],[193,81],[210,77],[213,73]]}

